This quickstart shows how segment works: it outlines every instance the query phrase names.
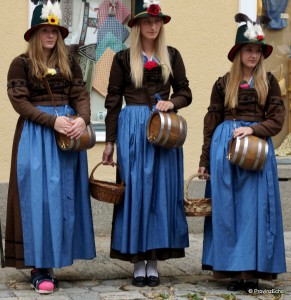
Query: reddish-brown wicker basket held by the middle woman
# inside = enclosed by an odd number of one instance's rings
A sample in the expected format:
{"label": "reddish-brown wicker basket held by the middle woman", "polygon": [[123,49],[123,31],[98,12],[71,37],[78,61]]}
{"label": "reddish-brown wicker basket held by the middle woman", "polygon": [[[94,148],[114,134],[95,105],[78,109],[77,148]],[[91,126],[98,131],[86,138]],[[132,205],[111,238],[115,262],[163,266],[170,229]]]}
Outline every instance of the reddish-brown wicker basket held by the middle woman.
{"label": "reddish-brown wicker basket held by the middle woman", "polygon": [[[91,196],[96,200],[117,205],[124,198],[125,185],[123,182],[118,184],[94,179],[93,174],[100,165],[102,165],[102,162],[93,168],[89,178]],[[114,163],[114,166],[117,166],[117,164]]]}

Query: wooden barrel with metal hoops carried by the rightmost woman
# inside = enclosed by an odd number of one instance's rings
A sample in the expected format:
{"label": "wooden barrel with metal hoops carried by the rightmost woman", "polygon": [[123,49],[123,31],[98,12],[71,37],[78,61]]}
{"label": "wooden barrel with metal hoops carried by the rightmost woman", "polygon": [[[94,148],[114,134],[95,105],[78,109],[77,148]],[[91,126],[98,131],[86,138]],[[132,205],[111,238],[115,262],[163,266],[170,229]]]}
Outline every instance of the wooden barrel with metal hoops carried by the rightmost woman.
{"label": "wooden barrel with metal hoops carried by the rightmost woman", "polygon": [[253,135],[233,138],[229,144],[228,159],[246,170],[261,170],[269,151],[266,140]]}

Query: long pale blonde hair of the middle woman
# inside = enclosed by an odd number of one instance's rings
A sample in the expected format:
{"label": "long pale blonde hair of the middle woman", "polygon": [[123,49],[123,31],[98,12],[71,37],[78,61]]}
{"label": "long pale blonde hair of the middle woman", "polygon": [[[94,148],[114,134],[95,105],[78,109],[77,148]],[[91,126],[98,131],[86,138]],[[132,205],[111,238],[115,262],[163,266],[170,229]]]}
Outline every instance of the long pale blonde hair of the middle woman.
{"label": "long pale blonde hair of the middle woman", "polygon": [[[154,44],[155,56],[159,59],[162,67],[163,82],[169,80],[172,74],[169,52],[166,45],[164,23],[162,22],[159,35],[155,39]],[[143,59],[142,59],[142,44],[140,36],[140,22],[138,21],[131,29],[131,44],[130,44],[130,68],[131,79],[135,87],[143,85]]]}

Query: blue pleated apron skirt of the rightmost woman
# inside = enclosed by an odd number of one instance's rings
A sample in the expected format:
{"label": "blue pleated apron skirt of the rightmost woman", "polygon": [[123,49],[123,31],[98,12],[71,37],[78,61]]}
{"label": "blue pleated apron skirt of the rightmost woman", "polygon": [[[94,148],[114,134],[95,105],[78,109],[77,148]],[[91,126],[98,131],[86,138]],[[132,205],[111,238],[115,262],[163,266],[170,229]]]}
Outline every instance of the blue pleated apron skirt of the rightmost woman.
{"label": "blue pleated apron skirt of the rightmost woman", "polygon": [[[250,126],[237,121],[236,126]],[[210,150],[212,217],[205,220],[202,264],[215,271],[286,272],[277,164],[272,140],[261,171],[227,160],[233,121],[214,132]],[[206,189],[207,190],[207,189]]]}

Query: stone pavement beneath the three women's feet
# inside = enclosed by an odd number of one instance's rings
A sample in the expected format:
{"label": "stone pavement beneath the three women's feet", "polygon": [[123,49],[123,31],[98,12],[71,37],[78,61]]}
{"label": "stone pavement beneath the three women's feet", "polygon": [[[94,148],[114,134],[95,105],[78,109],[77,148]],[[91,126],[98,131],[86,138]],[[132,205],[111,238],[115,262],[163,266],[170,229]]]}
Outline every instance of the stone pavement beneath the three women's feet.
{"label": "stone pavement beneath the three women's feet", "polygon": [[211,273],[201,270],[202,234],[190,234],[186,257],[159,262],[161,285],[137,288],[131,285],[132,266],[109,258],[110,236],[96,236],[97,258],[77,261],[56,270],[59,290],[39,295],[29,284],[30,270],[0,269],[0,299],[6,300],[252,300],[291,299],[291,231],[285,232],[288,273],[272,283],[260,281],[259,291],[246,294],[229,292],[227,281],[214,281]]}

